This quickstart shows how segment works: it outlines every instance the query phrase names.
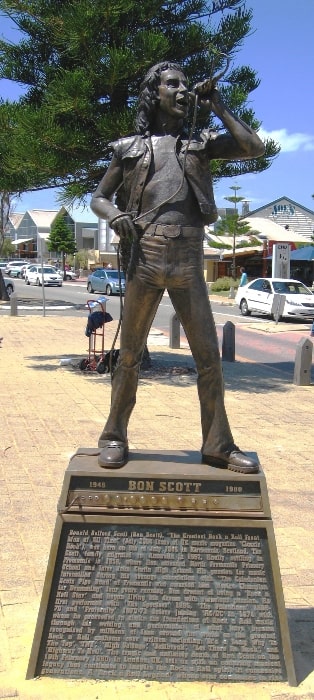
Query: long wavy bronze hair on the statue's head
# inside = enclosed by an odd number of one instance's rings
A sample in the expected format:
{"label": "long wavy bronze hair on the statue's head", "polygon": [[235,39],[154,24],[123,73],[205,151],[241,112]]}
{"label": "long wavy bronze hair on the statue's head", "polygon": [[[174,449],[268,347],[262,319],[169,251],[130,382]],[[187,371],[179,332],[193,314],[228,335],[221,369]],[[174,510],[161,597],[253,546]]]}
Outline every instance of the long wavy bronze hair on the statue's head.
{"label": "long wavy bronze hair on the statue's head", "polygon": [[154,120],[156,105],[158,103],[158,87],[160,74],[165,70],[178,70],[183,73],[182,67],[172,61],[156,63],[149,69],[140,87],[137,115],[135,119],[135,131],[141,136],[149,136]]}

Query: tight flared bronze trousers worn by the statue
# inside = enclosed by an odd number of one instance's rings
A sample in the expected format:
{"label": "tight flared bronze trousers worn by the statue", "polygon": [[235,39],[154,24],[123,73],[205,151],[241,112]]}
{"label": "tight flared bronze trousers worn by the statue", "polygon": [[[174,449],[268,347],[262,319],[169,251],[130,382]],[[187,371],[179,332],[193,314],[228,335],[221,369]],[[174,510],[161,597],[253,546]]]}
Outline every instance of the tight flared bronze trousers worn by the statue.
{"label": "tight flared bronze trousers worn by the statue", "polygon": [[128,272],[120,361],[112,380],[111,409],[101,440],[127,441],[136,403],[141,357],[165,289],[182,323],[195,360],[202,424],[202,453],[233,449],[223,399],[216,327],[203,272],[203,236],[142,236],[134,244]]}

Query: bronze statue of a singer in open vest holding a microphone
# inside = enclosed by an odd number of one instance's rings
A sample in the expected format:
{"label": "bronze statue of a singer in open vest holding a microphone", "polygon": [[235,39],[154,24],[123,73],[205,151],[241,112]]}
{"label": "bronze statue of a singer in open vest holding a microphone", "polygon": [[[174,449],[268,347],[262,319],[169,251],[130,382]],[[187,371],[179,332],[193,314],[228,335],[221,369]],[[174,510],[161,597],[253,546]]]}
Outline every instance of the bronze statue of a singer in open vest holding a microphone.
{"label": "bronze statue of a singer in open vest holding a microphone", "polygon": [[[211,159],[243,160],[264,153],[257,134],[223,103],[215,81],[196,86],[202,106],[226,131],[192,137],[185,122],[191,96],[182,68],[151,68],[142,85],[136,134],[112,144],[113,159],[91,202],[120,236],[133,238],[111,409],[99,438],[99,464],[128,461],[127,426],[136,402],[142,353],[165,289],[185,330],[198,372],[202,461],[242,473],[258,463],[235,445],[223,400],[216,327],[203,272],[204,225],[217,218]],[[117,193],[116,204],[113,196]]]}

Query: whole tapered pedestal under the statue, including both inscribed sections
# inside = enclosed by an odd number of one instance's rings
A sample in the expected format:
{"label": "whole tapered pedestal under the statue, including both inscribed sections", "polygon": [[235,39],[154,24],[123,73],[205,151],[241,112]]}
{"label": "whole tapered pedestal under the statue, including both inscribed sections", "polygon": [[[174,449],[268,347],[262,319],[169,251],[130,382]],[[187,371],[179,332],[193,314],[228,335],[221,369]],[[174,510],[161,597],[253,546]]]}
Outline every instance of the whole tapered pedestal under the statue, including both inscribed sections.
{"label": "whole tapered pedestal under the statue, including both inscribed sections", "polygon": [[74,455],[28,678],[296,684],[263,472],[199,459]]}

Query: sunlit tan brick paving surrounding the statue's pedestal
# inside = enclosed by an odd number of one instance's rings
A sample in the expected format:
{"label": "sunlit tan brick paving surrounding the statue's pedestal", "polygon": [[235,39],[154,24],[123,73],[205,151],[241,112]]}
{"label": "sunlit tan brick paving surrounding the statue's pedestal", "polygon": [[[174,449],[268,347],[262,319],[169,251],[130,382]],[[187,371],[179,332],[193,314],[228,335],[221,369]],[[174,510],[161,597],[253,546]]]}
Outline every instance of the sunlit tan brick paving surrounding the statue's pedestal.
{"label": "sunlit tan brick paving surrounding the statue's pedestal", "polygon": [[[106,326],[108,349],[115,329],[115,322]],[[78,447],[96,446],[110,403],[109,376],[76,368],[87,355],[84,331],[82,318],[11,317],[0,307],[0,698],[314,700],[313,386],[296,387],[263,365],[241,362],[224,363],[226,407],[235,441],[258,453],[266,474],[298,687],[25,681],[64,472]],[[156,331],[149,349],[157,369],[141,377],[130,447],[198,450],[189,349],[169,349]]]}

